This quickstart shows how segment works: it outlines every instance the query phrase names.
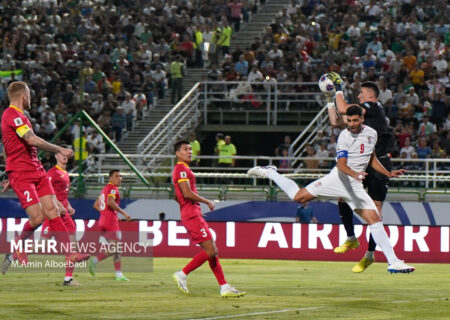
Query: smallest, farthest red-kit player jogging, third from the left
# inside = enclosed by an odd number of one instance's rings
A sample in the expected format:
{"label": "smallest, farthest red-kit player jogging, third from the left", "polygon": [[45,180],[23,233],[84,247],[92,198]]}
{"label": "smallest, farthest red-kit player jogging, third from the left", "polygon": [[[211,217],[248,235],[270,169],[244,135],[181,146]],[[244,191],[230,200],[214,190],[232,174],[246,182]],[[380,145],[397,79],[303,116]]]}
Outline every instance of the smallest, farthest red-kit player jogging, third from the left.
{"label": "smallest, farthest red-kit player jogging, third from the left", "polygon": [[[100,197],[94,203],[94,208],[100,212],[100,219],[98,226],[102,232],[103,237],[114,244],[121,240],[121,233],[119,228],[119,217],[117,212],[120,212],[128,221],[131,217],[119,207],[120,195],[117,188],[122,183],[122,176],[119,170],[111,170],[109,172],[109,183],[103,188]],[[108,246],[108,248],[112,248]],[[116,270],[117,281],[129,281],[121,271],[120,255],[117,252],[100,252],[97,257],[91,259],[89,264],[90,273],[95,276],[95,266],[99,261],[102,261],[109,256],[113,256],[114,269]]]}

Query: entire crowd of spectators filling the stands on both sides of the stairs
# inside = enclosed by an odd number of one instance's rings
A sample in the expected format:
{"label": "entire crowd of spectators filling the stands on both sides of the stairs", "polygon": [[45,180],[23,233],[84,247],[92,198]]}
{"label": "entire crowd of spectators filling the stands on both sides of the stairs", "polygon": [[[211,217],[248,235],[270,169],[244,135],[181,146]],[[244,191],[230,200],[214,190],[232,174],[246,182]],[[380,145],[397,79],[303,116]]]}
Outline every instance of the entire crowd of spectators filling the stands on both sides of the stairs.
{"label": "entire crowd of spectators filling the stands on both sides of the stairs", "polygon": [[[21,78],[32,88],[30,118],[39,135],[51,137],[83,109],[119,141],[164,98],[178,55],[187,67],[208,67],[209,80],[243,86],[245,80],[316,82],[332,70],[346,82],[349,101],[357,101],[361,82],[379,84],[398,138],[394,156],[450,155],[445,1],[292,0],[253,43],[230,52],[232,29],[239,30],[240,16],[248,21],[259,3],[2,1],[1,106],[7,106],[8,83]],[[225,59],[218,66],[220,56]],[[9,76],[11,70],[17,74]],[[77,132],[75,124],[63,139],[72,144]],[[333,156],[338,132],[323,134],[309,152]],[[102,152],[101,138],[92,142],[92,136],[87,133],[90,152]]]}

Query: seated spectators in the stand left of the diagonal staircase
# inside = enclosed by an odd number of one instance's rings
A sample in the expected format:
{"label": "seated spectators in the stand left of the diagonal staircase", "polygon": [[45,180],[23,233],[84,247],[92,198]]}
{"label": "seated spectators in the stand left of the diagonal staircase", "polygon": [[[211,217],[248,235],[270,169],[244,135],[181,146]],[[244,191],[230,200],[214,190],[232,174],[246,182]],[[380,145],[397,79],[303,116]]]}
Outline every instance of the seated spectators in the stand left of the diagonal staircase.
{"label": "seated spectators in the stand left of the diagonal staircase", "polygon": [[[29,117],[38,135],[51,138],[85,110],[120,141],[166,95],[171,62],[181,55],[187,66],[203,66],[204,40],[217,47],[217,54],[228,52],[231,23],[239,30],[241,14],[248,21],[258,3],[1,1],[1,108],[8,106],[8,84],[24,80],[31,88]],[[101,137],[87,131],[89,152],[104,150]],[[78,135],[75,124],[62,140],[71,145]]]}

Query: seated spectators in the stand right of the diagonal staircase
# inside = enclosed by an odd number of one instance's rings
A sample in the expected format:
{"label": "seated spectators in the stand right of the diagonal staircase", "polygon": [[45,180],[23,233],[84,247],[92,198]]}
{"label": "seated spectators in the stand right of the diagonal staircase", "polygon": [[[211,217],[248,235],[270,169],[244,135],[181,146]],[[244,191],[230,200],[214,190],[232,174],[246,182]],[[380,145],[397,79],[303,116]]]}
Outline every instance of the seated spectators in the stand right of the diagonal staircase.
{"label": "seated spectators in the stand right of the diagonal staircase", "polygon": [[[359,85],[375,81],[397,136],[393,156],[450,157],[449,9],[439,0],[293,0],[261,37],[225,60],[220,77],[316,82],[335,71],[346,83],[347,100],[355,103]],[[210,74],[217,78],[215,69]],[[306,154],[334,156],[338,133],[321,133]]]}

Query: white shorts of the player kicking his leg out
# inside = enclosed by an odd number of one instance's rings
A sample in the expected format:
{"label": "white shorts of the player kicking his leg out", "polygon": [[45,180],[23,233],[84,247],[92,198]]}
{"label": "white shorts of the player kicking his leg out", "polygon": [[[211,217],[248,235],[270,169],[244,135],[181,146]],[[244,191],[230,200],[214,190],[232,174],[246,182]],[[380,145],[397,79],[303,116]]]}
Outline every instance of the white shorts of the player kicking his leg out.
{"label": "white shorts of the player kicking his leg out", "polygon": [[329,174],[306,186],[306,190],[315,197],[342,198],[352,210],[372,209],[377,211],[373,200],[364,190],[362,182],[340,172],[336,167]]}

